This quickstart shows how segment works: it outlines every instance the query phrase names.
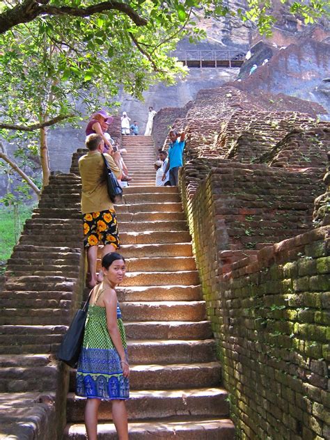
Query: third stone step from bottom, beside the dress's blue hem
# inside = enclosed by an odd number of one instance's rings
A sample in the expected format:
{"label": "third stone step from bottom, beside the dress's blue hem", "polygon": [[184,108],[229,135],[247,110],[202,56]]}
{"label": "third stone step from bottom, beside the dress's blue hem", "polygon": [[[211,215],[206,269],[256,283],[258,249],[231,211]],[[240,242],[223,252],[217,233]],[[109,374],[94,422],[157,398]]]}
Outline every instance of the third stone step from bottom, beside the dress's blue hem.
{"label": "third stone step from bottom, beside the dress's blue hem", "polygon": [[[221,367],[218,362],[173,363],[168,365],[132,365],[129,387],[133,390],[171,390],[219,386]],[[70,391],[74,391],[76,371],[70,371]]]}

